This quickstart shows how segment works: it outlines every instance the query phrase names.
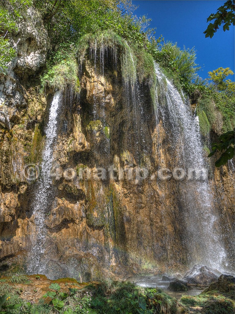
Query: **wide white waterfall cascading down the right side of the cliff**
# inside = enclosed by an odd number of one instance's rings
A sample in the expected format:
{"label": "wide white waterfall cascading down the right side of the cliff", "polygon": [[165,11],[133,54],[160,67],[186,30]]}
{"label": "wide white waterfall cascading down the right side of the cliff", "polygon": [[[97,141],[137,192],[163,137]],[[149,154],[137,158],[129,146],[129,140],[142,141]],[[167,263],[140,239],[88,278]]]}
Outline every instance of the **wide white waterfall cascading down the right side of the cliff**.
{"label": "wide white waterfall cascading down the right side of the cliff", "polygon": [[[171,166],[188,171],[206,169],[197,119],[189,103],[183,100],[174,85],[155,64],[156,124],[162,121],[172,149]],[[226,254],[219,232],[211,187],[207,180],[176,181],[176,201],[182,215],[182,245],[188,252],[188,264],[201,263],[223,270]],[[184,230],[185,229],[185,230]]]}

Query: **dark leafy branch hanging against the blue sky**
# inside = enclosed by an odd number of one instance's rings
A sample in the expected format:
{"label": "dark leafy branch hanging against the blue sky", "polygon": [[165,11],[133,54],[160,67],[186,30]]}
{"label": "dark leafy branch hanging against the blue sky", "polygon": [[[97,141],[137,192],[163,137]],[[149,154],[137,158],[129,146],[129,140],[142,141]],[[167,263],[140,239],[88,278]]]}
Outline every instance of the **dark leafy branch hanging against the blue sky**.
{"label": "dark leafy branch hanging against the blue sky", "polygon": [[208,18],[207,18],[207,23],[209,21],[213,21],[214,23],[210,23],[207,26],[207,29],[203,34],[206,34],[205,37],[210,37],[212,38],[215,34],[215,32],[219,29],[219,26],[223,24],[223,30],[229,30],[229,26],[232,24],[233,26],[235,25],[235,20],[234,20],[234,7],[235,7],[235,1],[234,0],[229,0],[224,3],[221,7],[217,9],[216,13],[212,13]]}

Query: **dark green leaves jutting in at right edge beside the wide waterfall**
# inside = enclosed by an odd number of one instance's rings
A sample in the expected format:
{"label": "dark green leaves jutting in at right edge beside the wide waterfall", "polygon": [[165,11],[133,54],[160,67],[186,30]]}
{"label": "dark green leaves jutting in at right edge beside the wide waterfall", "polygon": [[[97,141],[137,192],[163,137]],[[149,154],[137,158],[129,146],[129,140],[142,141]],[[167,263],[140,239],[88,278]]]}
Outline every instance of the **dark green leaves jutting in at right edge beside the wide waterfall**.
{"label": "dark green leaves jutting in at right edge beside the wide waterfall", "polygon": [[212,143],[212,151],[208,157],[212,157],[217,150],[222,152],[220,158],[215,162],[216,167],[225,165],[228,160],[234,157],[234,137],[235,129],[227,133],[223,133],[218,137],[217,143]]}

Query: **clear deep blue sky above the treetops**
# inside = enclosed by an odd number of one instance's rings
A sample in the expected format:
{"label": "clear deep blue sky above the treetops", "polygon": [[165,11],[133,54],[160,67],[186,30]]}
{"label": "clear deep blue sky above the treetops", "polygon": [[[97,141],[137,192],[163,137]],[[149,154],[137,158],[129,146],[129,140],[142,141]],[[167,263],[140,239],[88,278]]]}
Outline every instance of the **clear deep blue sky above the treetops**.
{"label": "clear deep blue sky above the treetops", "polygon": [[[163,35],[165,41],[177,42],[182,49],[197,50],[196,62],[203,71],[198,74],[207,78],[207,72],[219,67],[231,68],[234,72],[234,26],[229,31],[222,27],[211,38],[205,38],[206,19],[225,3],[219,0],[133,0],[138,5],[137,16],[147,15],[152,19],[151,27],[156,27],[155,37]],[[229,77],[234,80],[234,75]]]}

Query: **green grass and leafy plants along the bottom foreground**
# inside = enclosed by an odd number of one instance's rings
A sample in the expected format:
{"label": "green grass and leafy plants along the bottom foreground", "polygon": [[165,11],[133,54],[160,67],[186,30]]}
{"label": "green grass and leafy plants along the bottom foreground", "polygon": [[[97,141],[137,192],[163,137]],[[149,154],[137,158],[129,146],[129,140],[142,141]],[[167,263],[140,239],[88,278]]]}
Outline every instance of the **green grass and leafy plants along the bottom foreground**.
{"label": "green grass and leafy plants along the bottom foreground", "polygon": [[[60,288],[60,287],[59,287]],[[21,311],[27,314],[49,313],[93,313],[93,314],[186,314],[185,306],[160,289],[144,288],[129,282],[106,280],[90,284],[83,289],[70,289],[68,293],[60,289],[52,295],[39,299],[37,304],[25,304],[20,298],[20,291],[9,284],[0,285],[0,295],[6,294],[8,299],[4,306],[21,304]],[[37,292],[34,290],[34,293]],[[62,303],[60,307],[57,304]],[[1,308],[0,308],[1,311]],[[18,313],[13,311],[13,313]]]}

